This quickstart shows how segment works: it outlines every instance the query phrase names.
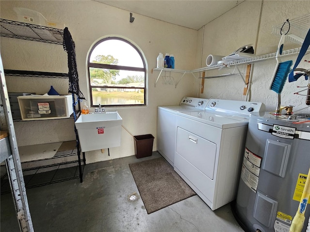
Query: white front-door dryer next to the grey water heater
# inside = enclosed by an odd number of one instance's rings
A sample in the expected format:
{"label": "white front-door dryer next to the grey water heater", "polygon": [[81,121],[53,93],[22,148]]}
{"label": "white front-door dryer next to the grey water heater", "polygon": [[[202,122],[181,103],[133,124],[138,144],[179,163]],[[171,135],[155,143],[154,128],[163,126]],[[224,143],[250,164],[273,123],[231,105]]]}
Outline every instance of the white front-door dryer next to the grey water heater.
{"label": "white front-door dryer next to the grey water heater", "polygon": [[205,111],[178,112],[174,170],[215,210],[236,197],[250,113],[260,102],[210,99]]}

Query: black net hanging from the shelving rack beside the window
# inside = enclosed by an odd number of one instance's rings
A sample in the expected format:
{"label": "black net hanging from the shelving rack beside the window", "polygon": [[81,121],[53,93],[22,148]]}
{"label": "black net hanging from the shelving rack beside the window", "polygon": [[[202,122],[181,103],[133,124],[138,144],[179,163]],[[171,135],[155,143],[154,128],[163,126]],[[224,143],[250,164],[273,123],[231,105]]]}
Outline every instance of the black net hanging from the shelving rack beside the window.
{"label": "black net hanging from the shelving rack beside the window", "polygon": [[78,99],[85,99],[83,93],[78,86],[78,70],[76,61],[75,43],[72,40],[68,28],[63,29],[63,50],[68,53],[68,68],[69,68],[69,93],[74,93]]}

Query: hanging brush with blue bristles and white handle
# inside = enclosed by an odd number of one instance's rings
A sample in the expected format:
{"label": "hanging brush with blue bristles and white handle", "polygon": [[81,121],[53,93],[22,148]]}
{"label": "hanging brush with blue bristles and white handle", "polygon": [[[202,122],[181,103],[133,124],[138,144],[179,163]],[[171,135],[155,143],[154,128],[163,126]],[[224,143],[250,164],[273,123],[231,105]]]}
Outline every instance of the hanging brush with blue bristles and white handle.
{"label": "hanging brush with blue bristles and white handle", "polygon": [[283,51],[284,40],[285,40],[285,34],[282,34],[279,45],[278,45],[277,54],[276,54],[276,60],[277,60],[276,69],[273,73],[273,78],[269,86],[269,89],[278,93],[278,105],[276,108],[275,115],[280,115],[281,92],[286,82],[287,76],[291,72],[291,66],[293,65],[292,60],[281,62],[280,57]]}

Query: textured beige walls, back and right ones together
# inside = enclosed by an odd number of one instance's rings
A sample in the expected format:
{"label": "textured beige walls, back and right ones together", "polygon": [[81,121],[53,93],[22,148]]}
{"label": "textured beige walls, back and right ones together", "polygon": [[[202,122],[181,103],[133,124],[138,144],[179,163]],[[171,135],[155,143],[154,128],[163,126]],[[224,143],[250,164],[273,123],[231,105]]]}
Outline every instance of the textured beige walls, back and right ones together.
{"label": "textured beige walls, back and right ones together", "polygon": [[[120,35],[136,44],[146,58],[148,68],[148,105],[145,107],[113,108],[123,117],[122,145],[107,151],[87,152],[87,162],[109,160],[134,155],[132,135],[151,133],[155,136],[156,150],[156,107],[178,104],[182,97],[203,97],[246,100],[244,83],[238,76],[205,80],[204,93],[200,92],[200,80],[186,74],[177,88],[164,85],[162,78],[156,87],[158,71],[152,73],[159,52],[173,53],[176,69],[192,70],[205,67],[209,54],[229,55],[242,45],[252,43],[255,54],[276,52],[279,37],[271,34],[272,26],[309,14],[310,1],[299,0],[246,0],[231,11],[218,17],[199,31],[171,25],[159,20],[134,14],[134,23],[129,23],[129,12],[95,1],[0,1],[1,18],[16,20],[13,7],[29,8],[43,14],[47,20],[65,24],[76,43],[79,84],[89,98],[86,76],[86,59],[92,44],[103,36]],[[202,42],[203,39],[203,42]],[[9,39],[1,37],[1,57],[5,69],[35,70],[45,72],[67,72],[67,57],[61,45]],[[285,43],[284,49],[300,44]],[[305,59],[310,59],[307,55]],[[295,62],[297,56],[288,57]],[[286,60],[285,58],[283,60]],[[263,102],[268,111],[276,107],[276,93],[269,90],[275,59],[252,65],[251,101]],[[309,65],[308,65],[309,66]],[[301,66],[303,67],[303,66]],[[308,67],[309,68],[309,67]],[[245,73],[246,66],[240,66]],[[232,73],[233,68],[207,72],[207,75]],[[169,74],[169,73],[167,73]],[[196,73],[199,76],[200,73]],[[176,81],[182,73],[171,73]],[[67,93],[67,80],[44,78],[7,77],[9,91],[34,91],[39,94],[53,85],[60,93]],[[306,107],[305,97],[296,96],[296,86],[306,86],[308,81],[299,78],[286,83],[282,91],[282,105],[294,105],[294,111]],[[303,110],[308,112],[309,109]],[[43,144],[75,139],[73,120],[47,120],[16,122],[18,145]]]}

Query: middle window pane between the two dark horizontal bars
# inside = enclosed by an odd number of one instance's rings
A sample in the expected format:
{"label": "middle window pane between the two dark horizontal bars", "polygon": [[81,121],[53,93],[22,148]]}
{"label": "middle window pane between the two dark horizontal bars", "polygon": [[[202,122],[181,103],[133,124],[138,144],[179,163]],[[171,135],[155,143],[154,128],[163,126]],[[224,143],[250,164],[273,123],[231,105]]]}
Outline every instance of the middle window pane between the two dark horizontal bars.
{"label": "middle window pane between the two dark horizontal bars", "polygon": [[89,68],[91,86],[144,87],[144,72]]}

